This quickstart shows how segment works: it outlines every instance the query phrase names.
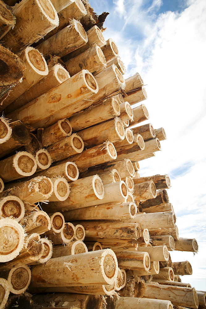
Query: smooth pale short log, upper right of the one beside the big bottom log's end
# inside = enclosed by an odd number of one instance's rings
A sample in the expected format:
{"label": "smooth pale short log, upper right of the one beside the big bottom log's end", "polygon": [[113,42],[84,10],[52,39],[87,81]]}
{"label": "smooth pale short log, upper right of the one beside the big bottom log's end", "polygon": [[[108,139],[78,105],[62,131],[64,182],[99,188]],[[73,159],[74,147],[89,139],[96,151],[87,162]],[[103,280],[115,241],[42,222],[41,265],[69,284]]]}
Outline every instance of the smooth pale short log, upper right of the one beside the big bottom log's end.
{"label": "smooth pale short log, upper right of the one beside the big bottom log's end", "polygon": [[136,251],[148,252],[151,262],[154,262],[156,260],[158,261],[168,261],[169,260],[169,252],[165,245],[155,246],[155,247],[141,247],[141,248],[137,248]]}

